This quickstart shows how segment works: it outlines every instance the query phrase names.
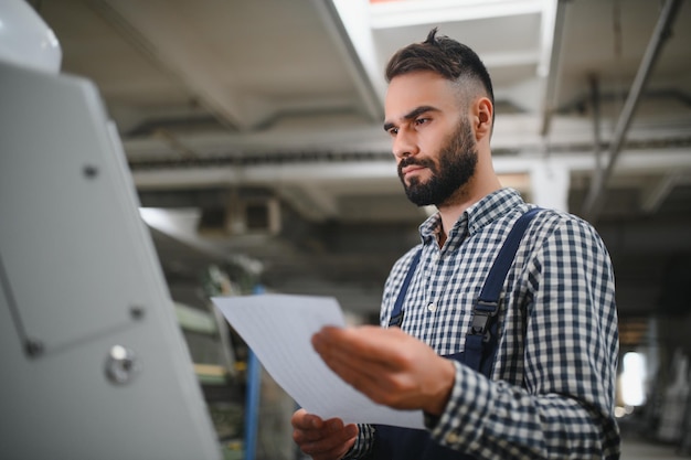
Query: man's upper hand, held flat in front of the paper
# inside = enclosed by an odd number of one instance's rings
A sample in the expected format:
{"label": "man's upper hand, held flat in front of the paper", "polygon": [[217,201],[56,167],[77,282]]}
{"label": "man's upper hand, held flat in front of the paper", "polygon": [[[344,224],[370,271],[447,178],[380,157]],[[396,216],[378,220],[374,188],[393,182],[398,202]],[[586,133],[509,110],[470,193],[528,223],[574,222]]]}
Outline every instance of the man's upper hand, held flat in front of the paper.
{"label": "man's upper hand, held flat in front of the paper", "polygon": [[375,403],[442,415],[456,370],[450,360],[398,328],[327,327],[312,345],[343,381]]}

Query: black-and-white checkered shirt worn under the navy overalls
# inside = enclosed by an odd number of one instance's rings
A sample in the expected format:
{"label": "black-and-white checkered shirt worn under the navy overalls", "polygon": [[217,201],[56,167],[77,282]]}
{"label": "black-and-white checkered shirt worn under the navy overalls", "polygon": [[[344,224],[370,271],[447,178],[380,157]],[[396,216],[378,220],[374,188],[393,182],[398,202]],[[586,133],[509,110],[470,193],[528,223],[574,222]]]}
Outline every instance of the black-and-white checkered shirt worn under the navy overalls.
{"label": "black-and-white checkered shirt worn under the navy overalls", "polygon": [[[511,227],[530,207],[518,192],[497,191],[463,214],[443,248],[439,215],[425,221],[402,329],[440,355],[464,351],[474,302]],[[390,274],[384,327],[418,248]],[[614,274],[589,224],[552,210],[535,216],[507,275],[499,321],[491,379],[455,362],[444,414],[426,421],[432,438],[476,459],[618,459]],[[366,459],[374,429],[361,425],[346,458]]]}

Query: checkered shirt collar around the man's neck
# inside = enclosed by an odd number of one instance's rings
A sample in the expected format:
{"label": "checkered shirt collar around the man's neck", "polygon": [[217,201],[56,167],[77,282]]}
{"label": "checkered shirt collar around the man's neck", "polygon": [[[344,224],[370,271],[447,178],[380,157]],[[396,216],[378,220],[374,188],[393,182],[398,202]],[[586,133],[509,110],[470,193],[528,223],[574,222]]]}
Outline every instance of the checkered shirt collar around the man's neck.
{"label": "checkered shirt collar around the man's neck", "polygon": [[[449,231],[448,238],[455,235],[474,235],[487,224],[496,221],[515,207],[525,204],[519,192],[513,189],[500,189],[482,197],[477,203],[469,206],[456,221]],[[419,226],[419,235],[424,243],[436,240],[437,234],[442,231],[442,216],[435,213]]]}

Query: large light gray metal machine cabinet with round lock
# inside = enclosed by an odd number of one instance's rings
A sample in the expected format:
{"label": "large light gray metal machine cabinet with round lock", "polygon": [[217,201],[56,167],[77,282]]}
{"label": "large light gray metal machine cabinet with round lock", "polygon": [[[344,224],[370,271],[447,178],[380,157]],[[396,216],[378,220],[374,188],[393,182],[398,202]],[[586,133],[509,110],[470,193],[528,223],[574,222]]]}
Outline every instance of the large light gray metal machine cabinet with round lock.
{"label": "large light gray metal machine cabinet with round lock", "polygon": [[116,130],[0,62],[0,458],[219,459]]}

